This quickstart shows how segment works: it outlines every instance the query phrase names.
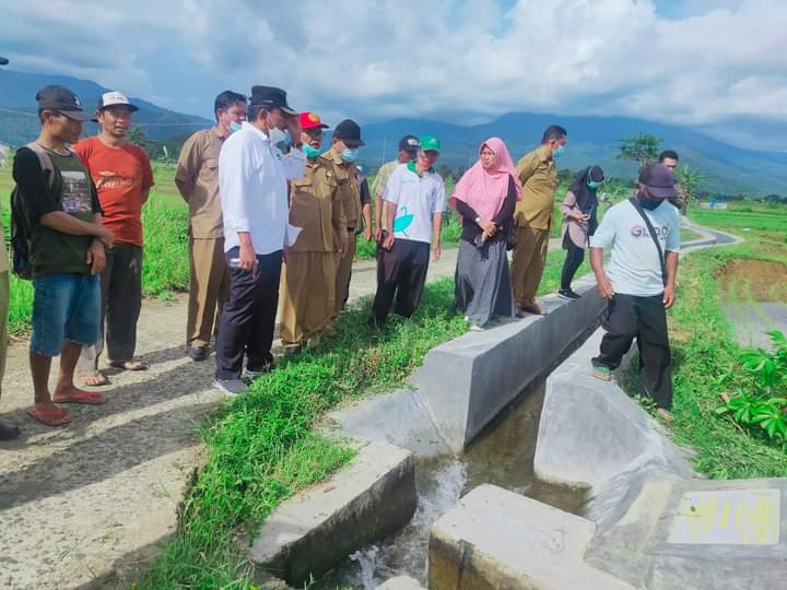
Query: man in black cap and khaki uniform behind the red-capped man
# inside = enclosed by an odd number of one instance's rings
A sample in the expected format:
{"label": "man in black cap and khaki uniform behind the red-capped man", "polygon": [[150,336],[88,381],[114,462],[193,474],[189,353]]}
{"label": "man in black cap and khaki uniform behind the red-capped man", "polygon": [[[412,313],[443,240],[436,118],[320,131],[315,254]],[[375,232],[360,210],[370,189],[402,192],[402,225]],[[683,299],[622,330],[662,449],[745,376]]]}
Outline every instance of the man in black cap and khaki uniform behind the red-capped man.
{"label": "man in black cap and khaki uniform behind the red-capped man", "polygon": [[[355,231],[361,225],[363,215],[361,182],[355,167],[355,160],[357,158],[359,148],[365,145],[365,143],[361,140],[361,127],[351,119],[344,119],[336,127],[332,142],[331,149],[322,154],[322,157],[331,161],[336,166],[339,196],[350,237],[346,253],[337,260],[336,302],[333,307],[333,318],[336,318],[350,294],[350,275],[352,274],[352,263],[355,258]],[[329,326],[326,331],[334,333],[332,326]]]}

